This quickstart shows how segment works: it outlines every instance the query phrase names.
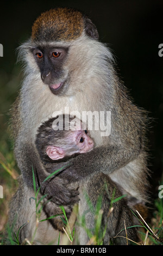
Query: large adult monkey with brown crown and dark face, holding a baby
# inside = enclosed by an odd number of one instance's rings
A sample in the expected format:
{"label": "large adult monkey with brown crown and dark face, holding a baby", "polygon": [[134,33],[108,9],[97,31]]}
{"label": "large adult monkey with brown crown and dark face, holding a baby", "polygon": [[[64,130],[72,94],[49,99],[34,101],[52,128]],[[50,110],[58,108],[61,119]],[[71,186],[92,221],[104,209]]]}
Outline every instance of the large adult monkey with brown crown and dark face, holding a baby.
{"label": "large adult monkey with brown crown and dark face, holding a baby", "polygon": [[37,187],[43,187],[48,176],[37,161],[34,146],[42,121],[55,111],[64,113],[65,107],[81,116],[82,111],[111,111],[110,136],[90,131],[96,148],[70,161],[72,164],[45,183],[41,192],[52,196],[56,204],[70,204],[74,191],[66,190],[64,180],[82,182],[87,175],[101,170],[129,198],[136,198],[134,204],[146,202],[146,117],[127,96],[111,53],[98,41],[97,29],[90,19],[66,8],[46,11],[35,21],[32,37],[20,47],[19,56],[26,63],[26,77],[13,108],[12,125],[24,187],[33,187],[32,167]]}

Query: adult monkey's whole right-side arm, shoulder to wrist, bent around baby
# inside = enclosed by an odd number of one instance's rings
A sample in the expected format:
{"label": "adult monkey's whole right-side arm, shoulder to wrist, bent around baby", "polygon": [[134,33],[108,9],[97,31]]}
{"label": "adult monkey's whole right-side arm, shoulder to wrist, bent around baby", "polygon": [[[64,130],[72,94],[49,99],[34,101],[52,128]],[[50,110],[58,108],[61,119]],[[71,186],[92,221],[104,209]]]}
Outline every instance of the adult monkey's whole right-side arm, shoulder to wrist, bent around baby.
{"label": "adult monkey's whole right-side arm, shoulder to wrist, bent around baby", "polygon": [[[124,100],[121,104],[125,106]],[[68,181],[76,181],[99,171],[110,174],[137,159],[145,147],[142,121],[144,116],[141,113],[137,118],[139,115],[140,110],[131,105],[129,118],[128,108],[127,110],[122,107],[112,109],[111,134],[104,137],[104,144],[101,143],[101,146],[92,151],[74,158],[72,166],[67,167],[59,176]]]}

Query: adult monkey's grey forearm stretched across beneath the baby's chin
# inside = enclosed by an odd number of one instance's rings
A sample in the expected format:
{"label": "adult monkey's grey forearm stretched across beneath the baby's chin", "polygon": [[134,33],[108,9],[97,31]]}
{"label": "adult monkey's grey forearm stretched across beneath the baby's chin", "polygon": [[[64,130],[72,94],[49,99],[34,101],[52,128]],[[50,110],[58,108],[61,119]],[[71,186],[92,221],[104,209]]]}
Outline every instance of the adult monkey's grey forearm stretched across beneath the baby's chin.
{"label": "adult monkey's grey forearm stretched across beneath the baby's chin", "polygon": [[109,174],[126,166],[140,154],[139,148],[125,148],[117,145],[97,147],[89,153],[81,154],[70,160],[71,165],[59,174],[68,181],[76,181],[99,171]]}

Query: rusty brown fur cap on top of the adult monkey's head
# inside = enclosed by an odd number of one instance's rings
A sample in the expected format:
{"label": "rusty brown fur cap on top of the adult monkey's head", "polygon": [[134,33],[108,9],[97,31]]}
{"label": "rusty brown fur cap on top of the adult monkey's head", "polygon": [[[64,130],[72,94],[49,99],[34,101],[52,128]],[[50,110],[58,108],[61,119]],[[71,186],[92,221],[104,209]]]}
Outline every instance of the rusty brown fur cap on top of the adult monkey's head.
{"label": "rusty brown fur cap on top of the adult monkey's head", "polygon": [[79,11],[67,8],[51,9],[42,13],[34,22],[32,39],[73,40],[82,34],[83,29],[83,15]]}

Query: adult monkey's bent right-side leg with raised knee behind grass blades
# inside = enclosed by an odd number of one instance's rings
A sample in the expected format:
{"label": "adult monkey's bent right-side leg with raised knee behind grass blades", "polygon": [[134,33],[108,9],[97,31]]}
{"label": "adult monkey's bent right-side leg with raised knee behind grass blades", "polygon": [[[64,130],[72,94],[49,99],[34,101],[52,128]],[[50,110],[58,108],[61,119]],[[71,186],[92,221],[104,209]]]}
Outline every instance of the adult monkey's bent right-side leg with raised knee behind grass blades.
{"label": "adult monkey's bent right-side leg with raised knee behind grass blades", "polygon": [[[91,176],[83,187],[79,187],[79,192],[80,201],[77,223],[79,222],[80,224],[77,227],[77,236],[80,245],[86,245],[92,242],[93,239],[97,240],[96,244],[103,240],[103,245],[109,245],[111,241],[114,245],[127,245],[127,243],[130,243],[127,238],[133,241],[137,240],[136,230],[129,228],[133,225],[133,216],[126,204],[126,200],[121,198],[112,204],[112,200],[120,197],[121,193],[107,175],[99,173]],[[93,211],[89,202],[93,205]],[[99,209],[98,205],[101,205]],[[102,221],[97,233],[97,220],[101,214]],[[83,221],[81,221],[81,218],[83,218]],[[85,225],[85,227],[83,228],[81,225]],[[127,228],[127,238],[125,227]],[[92,233],[92,240],[90,240],[89,232]]]}

